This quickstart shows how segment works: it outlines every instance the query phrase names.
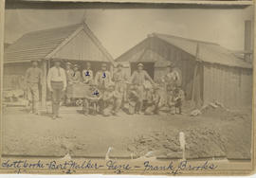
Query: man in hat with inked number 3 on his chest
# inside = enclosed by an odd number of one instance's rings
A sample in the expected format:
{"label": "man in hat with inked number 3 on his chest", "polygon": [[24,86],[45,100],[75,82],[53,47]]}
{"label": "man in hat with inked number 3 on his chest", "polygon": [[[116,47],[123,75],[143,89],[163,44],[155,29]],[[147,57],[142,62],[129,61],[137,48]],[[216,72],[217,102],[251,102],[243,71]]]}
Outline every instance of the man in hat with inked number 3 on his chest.
{"label": "man in hat with inked number 3 on his chest", "polygon": [[107,70],[106,63],[101,64],[101,70],[95,75],[95,84],[101,91],[104,91],[111,82],[110,72]]}

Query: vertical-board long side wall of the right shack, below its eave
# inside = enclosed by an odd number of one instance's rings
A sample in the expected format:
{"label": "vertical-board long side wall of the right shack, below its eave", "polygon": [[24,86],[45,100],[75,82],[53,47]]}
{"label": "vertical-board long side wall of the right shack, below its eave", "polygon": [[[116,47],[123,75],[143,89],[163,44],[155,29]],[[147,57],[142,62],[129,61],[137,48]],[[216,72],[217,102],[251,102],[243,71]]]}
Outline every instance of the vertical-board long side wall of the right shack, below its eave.
{"label": "vertical-board long side wall of the right shack, below its eave", "polygon": [[250,69],[204,63],[204,103],[218,101],[229,108],[251,105]]}

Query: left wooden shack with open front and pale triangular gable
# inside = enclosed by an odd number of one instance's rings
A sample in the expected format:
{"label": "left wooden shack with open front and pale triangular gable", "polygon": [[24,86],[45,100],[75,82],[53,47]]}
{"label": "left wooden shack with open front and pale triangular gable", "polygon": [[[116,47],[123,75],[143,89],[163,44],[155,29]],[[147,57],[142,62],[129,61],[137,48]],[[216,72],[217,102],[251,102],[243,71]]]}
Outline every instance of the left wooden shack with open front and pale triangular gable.
{"label": "left wooden shack with open front and pale triangular gable", "polygon": [[32,31],[6,48],[4,87],[19,87],[13,86],[11,80],[24,78],[30,61],[39,60],[44,73],[43,86],[40,87],[42,88],[40,93],[44,107],[47,96],[46,75],[53,59],[77,63],[81,66],[80,70],[84,67],[85,62],[91,62],[94,72],[100,69],[101,62],[106,62],[110,70],[114,63],[111,55],[85,23]]}

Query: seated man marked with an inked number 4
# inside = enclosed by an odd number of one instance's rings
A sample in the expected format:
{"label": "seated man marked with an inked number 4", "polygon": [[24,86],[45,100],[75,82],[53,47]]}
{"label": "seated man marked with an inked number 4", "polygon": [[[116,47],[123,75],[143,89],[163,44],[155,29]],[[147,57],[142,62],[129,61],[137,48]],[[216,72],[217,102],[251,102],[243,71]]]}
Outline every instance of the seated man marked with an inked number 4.
{"label": "seated man marked with an inked number 4", "polygon": [[90,84],[90,88],[86,91],[86,96],[83,100],[82,111],[83,115],[87,116],[88,114],[97,115],[99,100],[101,99],[101,94],[96,87],[95,83]]}

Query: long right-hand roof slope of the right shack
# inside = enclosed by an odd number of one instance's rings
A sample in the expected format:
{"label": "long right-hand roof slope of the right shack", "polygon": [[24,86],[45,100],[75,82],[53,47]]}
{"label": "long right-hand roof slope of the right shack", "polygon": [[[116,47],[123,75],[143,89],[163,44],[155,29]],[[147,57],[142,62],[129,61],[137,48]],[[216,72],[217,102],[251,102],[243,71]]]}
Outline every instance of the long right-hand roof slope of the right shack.
{"label": "long right-hand roof slope of the right shack", "polygon": [[229,49],[221,45],[165,34],[155,33],[153,36],[182,49],[192,56],[195,56],[196,46],[199,45],[198,59],[203,62],[219,63],[243,68],[252,67],[249,62],[244,62],[243,60],[237,58],[234,54],[232,54],[231,51],[229,51]]}

